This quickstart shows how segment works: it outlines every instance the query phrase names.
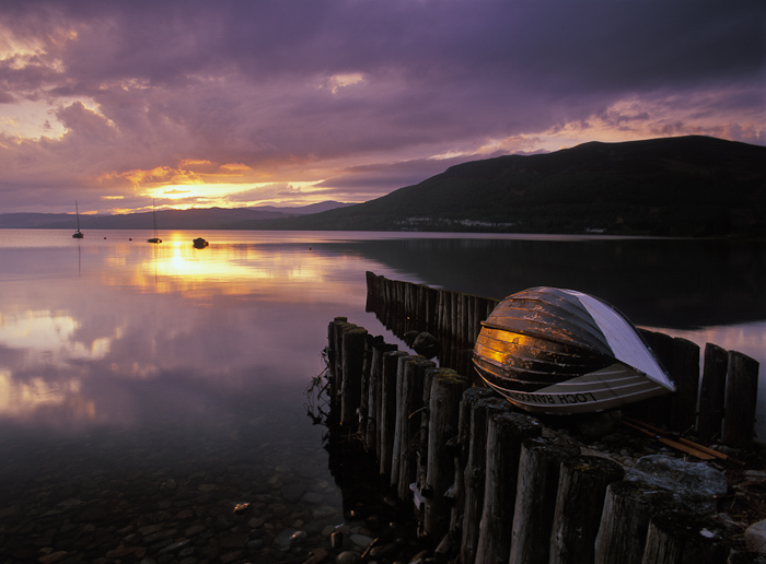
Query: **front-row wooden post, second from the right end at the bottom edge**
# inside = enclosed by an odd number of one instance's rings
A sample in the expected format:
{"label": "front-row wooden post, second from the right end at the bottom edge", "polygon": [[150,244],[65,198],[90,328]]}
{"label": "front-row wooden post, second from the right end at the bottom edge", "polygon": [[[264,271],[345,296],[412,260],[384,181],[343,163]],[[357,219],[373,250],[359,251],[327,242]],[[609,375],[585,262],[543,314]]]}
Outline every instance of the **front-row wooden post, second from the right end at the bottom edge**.
{"label": "front-row wooden post, second from the right end at the bottom edge", "polygon": [[606,487],[601,527],[595,539],[595,564],[641,564],[649,520],[677,509],[673,494],[640,482],[614,482]]}

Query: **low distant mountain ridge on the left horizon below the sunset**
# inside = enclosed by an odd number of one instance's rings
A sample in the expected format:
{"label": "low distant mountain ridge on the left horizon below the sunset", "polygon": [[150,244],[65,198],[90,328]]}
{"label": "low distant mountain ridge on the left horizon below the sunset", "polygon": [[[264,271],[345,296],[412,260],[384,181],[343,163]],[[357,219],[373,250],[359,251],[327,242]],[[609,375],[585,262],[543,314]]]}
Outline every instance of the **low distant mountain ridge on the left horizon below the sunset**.
{"label": "low distant mountain ridge on the left horizon below the sunset", "polygon": [[[162,230],[234,230],[243,222],[285,219],[294,215],[318,213],[336,208],[353,205],[326,201],[299,208],[206,208],[189,210],[160,210],[158,225]],[[153,224],[152,212],[126,213],[117,215],[80,215],[80,224],[85,230],[142,230]],[[0,228],[74,228],[71,213],[1,213]]]}

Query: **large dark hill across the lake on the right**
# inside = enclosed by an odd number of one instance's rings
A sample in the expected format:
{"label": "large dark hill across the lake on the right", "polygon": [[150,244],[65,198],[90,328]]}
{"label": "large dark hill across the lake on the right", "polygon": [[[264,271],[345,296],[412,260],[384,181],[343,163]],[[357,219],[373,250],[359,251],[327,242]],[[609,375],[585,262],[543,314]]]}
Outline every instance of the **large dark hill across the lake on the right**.
{"label": "large dark hill across the lake on the right", "polygon": [[766,236],[766,148],[591,142],[464,163],[365,203],[247,228]]}

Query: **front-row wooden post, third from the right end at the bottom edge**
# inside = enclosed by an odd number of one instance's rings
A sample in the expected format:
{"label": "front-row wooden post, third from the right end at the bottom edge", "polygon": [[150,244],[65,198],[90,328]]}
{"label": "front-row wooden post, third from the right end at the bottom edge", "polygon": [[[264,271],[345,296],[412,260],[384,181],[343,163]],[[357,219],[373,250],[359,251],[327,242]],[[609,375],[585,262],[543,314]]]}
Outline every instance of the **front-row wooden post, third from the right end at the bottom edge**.
{"label": "front-row wooden post, third from the right end at the bottom edge", "polygon": [[603,457],[579,456],[561,462],[549,562],[593,562],[606,486],[624,475],[622,466]]}

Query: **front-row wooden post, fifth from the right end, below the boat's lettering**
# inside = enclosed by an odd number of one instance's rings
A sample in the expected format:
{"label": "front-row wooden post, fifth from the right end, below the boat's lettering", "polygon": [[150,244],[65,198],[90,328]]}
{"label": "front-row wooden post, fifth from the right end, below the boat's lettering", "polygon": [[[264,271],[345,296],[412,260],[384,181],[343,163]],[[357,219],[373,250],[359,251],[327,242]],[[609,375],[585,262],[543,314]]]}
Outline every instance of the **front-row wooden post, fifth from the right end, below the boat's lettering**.
{"label": "front-row wooden post, fifth from the right end, below the boat's lettering", "polygon": [[521,413],[501,413],[489,419],[487,473],[479,521],[476,562],[506,564],[511,551],[519,458],[524,439],[539,436],[539,422]]}

